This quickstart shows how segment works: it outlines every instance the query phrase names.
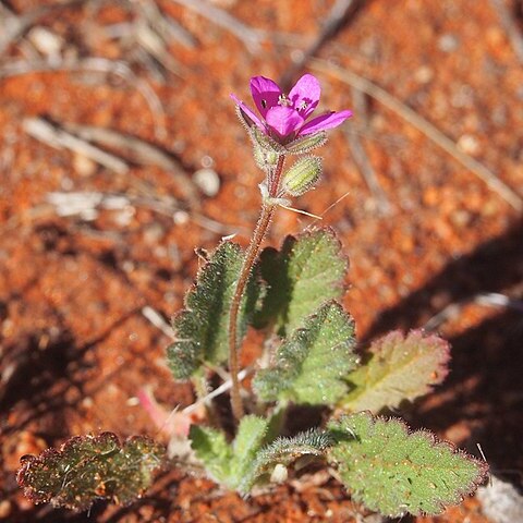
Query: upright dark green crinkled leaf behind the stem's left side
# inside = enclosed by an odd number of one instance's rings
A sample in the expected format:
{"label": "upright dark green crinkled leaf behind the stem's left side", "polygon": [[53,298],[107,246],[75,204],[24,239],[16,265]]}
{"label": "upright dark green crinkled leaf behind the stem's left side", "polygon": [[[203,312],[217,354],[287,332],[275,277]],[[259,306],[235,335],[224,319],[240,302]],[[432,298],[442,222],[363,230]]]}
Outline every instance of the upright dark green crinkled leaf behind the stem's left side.
{"label": "upright dark green crinkled leaf behind the stem's left side", "polygon": [[[220,365],[228,356],[229,312],[243,253],[239,245],[222,242],[198,271],[196,283],[185,295],[185,308],[174,316],[177,340],[168,348],[169,367],[177,379],[187,379],[205,362]],[[254,311],[259,284],[251,278],[239,315],[239,335]]]}

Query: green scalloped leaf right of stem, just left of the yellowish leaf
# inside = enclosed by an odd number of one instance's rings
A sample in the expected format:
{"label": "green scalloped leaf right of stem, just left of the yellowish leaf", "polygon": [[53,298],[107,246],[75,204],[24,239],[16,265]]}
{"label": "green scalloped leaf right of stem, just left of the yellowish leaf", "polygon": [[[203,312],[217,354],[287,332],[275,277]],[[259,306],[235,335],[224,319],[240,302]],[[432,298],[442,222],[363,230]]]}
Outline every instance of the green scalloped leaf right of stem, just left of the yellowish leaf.
{"label": "green scalloped leaf right of stem, just left of the yellowish leaf", "polygon": [[354,321],[339,303],[328,302],[282,342],[273,365],[256,374],[253,387],[265,401],[333,404],[357,364],[354,343]]}

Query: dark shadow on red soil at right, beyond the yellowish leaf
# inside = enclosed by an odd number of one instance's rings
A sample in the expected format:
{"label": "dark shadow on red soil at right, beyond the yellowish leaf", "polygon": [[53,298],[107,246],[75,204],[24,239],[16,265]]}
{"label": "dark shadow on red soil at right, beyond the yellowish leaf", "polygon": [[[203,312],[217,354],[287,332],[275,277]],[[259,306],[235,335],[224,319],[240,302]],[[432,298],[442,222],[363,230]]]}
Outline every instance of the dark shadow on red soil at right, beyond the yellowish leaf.
{"label": "dark shadow on red soil at right, beyond the yellowish leaf", "polygon": [[[381,314],[365,341],[391,329],[421,327],[447,305],[478,293],[504,294],[509,289],[521,300],[523,221],[450,263],[422,289]],[[449,340],[451,373],[436,391],[443,401],[414,412],[413,417],[417,426],[437,431],[465,422],[472,429],[467,450],[478,455],[476,443],[481,443],[492,472],[510,473],[523,466],[523,312],[499,311]]]}

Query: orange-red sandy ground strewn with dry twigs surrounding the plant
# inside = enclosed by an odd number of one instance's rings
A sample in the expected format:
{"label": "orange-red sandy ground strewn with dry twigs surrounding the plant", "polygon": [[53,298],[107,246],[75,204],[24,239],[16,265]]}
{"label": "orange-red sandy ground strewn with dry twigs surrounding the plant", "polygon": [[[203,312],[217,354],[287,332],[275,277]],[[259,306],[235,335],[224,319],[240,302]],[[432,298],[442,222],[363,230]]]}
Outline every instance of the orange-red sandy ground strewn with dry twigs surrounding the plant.
{"label": "orange-red sandy ground strewn with dry twigs surrounding the plant", "polygon": [[[168,319],[195,248],[245,244],[259,208],[229,95],[251,104],[251,76],[290,88],[304,72],[319,111],[354,115],[293,202],[321,222],[281,209],[267,242],[336,228],[362,344],[416,327],[452,342],[451,375],[409,423],[481,443],[521,486],[522,31],[516,0],[1,0],[0,520],[84,521],[26,501],[20,457],[87,431],[157,435],[144,387],[192,402],[165,367]],[[87,521],[362,516],[332,482],[300,485],[244,501],[166,474]],[[497,521],[484,512],[419,521]]]}

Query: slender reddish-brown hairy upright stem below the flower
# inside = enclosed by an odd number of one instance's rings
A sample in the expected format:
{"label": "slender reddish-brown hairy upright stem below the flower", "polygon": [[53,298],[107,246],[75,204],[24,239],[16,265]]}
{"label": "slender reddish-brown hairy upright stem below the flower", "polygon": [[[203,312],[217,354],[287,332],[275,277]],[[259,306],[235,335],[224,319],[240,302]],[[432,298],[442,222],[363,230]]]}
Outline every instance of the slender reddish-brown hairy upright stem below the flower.
{"label": "slender reddish-brown hairy upright stem below the flower", "polygon": [[[276,197],[279,191],[281,173],[283,171],[284,157],[278,158],[273,175],[270,177],[270,185],[268,187],[269,197]],[[270,221],[276,210],[276,205],[270,202],[264,202],[262,205],[262,211],[259,214],[258,222],[254,229],[251,243],[245,252],[245,258],[243,260],[242,269],[240,270],[240,277],[238,279],[236,289],[232,296],[231,312],[229,316],[229,370],[231,373],[232,388],[231,388],[231,408],[234,417],[240,421],[244,415],[242,398],[240,396],[240,380],[238,379],[238,373],[240,367],[238,364],[239,342],[238,342],[238,314],[242,303],[242,297],[245,292],[253,266],[258,257],[262,242],[270,226]]]}

